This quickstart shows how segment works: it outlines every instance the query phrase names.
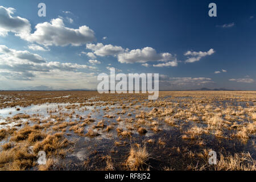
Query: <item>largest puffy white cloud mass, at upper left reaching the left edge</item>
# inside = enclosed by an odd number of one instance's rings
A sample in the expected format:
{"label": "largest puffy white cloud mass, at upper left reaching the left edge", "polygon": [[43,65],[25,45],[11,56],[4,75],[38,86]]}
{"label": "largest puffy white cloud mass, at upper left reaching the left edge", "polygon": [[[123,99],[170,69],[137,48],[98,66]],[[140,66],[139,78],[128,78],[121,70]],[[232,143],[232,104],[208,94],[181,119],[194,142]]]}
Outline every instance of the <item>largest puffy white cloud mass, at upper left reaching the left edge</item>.
{"label": "largest puffy white cloud mass, at upper left reaching the left edge", "polygon": [[[95,39],[94,31],[88,26],[79,28],[65,27],[63,17],[52,19],[51,22],[38,23],[35,32],[31,33],[30,22],[19,16],[13,16],[15,9],[0,6],[0,36],[6,36],[8,32],[14,32],[16,36],[44,46],[80,46],[92,42]],[[73,19],[66,18],[69,23]]]}

